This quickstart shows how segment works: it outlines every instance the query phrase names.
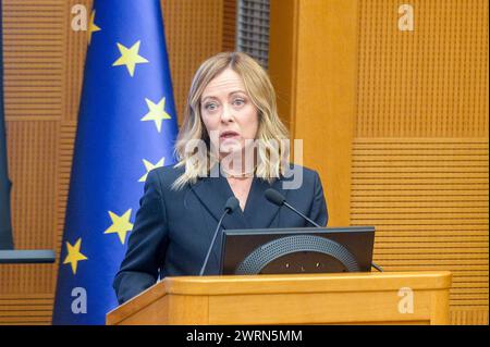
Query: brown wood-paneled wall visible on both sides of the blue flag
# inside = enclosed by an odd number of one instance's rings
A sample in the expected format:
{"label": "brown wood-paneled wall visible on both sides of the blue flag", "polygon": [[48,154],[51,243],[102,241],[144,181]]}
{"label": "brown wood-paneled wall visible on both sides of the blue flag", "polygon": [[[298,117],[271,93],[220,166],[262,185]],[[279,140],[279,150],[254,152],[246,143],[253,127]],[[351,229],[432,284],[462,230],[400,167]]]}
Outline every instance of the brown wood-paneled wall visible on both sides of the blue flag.
{"label": "brown wood-paneled wall visible on both sides of the blue flag", "polygon": [[[3,0],[4,102],[19,249],[59,255],[86,33],[72,7],[91,0]],[[162,0],[177,117],[199,63],[234,47],[232,0]],[[226,28],[224,30],[223,28]],[[0,265],[0,324],[50,324],[57,264]]]}

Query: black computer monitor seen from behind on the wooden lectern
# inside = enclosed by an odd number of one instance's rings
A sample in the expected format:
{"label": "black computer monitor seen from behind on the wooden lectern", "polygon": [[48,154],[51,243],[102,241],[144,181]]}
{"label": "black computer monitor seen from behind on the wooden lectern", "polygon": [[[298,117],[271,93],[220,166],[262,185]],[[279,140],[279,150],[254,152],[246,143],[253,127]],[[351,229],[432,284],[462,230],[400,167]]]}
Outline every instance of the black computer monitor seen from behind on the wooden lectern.
{"label": "black computer monitor seen from behind on the wooden lectern", "polygon": [[373,243],[373,226],[226,230],[220,272],[368,272]]}

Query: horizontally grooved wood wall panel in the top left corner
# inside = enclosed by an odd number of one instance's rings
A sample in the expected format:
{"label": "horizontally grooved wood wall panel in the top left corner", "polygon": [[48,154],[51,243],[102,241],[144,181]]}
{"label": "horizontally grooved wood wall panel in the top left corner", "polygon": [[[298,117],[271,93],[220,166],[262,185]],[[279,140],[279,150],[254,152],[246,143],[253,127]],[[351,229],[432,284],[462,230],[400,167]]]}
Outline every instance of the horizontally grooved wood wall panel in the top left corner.
{"label": "horizontally grooved wood wall panel in the top left corner", "polygon": [[63,2],[2,1],[5,117],[59,120]]}

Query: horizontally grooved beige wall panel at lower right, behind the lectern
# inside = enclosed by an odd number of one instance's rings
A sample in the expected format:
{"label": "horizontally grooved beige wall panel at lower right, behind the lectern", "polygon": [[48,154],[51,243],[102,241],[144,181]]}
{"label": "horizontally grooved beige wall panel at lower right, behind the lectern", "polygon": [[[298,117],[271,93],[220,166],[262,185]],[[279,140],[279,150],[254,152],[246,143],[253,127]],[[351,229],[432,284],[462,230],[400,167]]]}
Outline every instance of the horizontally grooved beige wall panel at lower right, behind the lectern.
{"label": "horizontally grooved beige wall panel at lower right, behind the lectern", "polygon": [[488,139],[354,141],[352,224],[385,271],[451,270],[454,324],[488,315]]}

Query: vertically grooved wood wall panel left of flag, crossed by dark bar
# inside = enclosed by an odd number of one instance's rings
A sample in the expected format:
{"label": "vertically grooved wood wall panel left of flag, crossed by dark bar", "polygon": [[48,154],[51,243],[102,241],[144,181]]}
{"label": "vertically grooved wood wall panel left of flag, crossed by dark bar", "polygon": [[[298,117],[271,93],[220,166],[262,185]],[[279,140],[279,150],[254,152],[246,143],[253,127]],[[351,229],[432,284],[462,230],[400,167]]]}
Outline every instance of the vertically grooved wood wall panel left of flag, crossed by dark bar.
{"label": "vertically grooved wood wall panel left of flag, crossed by dark bar", "polygon": [[[8,122],[12,227],[17,249],[52,249],[56,227],[56,122]],[[13,149],[16,149],[13,151]],[[13,154],[15,153],[15,154]],[[52,265],[0,267],[0,296],[52,290]]]}

